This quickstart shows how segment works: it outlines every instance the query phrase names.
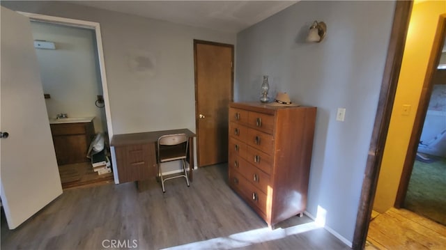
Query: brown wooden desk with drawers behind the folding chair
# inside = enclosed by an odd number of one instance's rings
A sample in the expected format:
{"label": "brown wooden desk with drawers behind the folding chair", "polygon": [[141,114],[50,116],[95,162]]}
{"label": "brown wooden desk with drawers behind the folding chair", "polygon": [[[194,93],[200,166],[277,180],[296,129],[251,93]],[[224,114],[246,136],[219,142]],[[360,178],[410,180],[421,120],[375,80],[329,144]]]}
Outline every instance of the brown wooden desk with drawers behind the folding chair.
{"label": "brown wooden desk with drawers behind the folding chair", "polygon": [[165,134],[186,134],[189,137],[189,180],[194,169],[194,137],[187,129],[162,130],[132,134],[115,134],[110,146],[115,148],[119,183],[147,180],[157,175],[156,143]]}

